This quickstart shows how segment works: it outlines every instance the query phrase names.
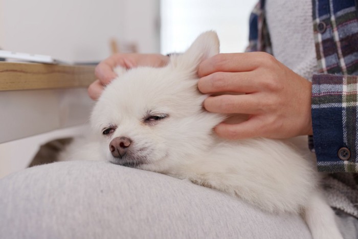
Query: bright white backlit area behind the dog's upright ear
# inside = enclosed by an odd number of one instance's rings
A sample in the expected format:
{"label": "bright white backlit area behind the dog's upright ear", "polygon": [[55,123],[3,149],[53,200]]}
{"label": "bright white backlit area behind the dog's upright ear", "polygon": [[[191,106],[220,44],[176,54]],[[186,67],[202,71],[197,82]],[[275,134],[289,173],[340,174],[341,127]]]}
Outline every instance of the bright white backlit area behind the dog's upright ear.
{"label": "bright white backlit area behind the dog's upright ear", "polygon": [[202,32],[215,30],[220,52],[243,52],[258,0],[162,0],[161,52],[183,52]]}

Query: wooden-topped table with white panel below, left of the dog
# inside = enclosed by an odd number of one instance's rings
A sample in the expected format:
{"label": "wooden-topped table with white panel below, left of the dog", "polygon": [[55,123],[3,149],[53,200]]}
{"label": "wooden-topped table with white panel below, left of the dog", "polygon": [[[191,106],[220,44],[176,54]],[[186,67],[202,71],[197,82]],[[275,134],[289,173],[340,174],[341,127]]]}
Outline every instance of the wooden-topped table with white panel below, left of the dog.
{"label": "wooden-topped table with white panel below, left of the dog", "polygon": [[0,143],[85,123],[94,69],[0,62]]}

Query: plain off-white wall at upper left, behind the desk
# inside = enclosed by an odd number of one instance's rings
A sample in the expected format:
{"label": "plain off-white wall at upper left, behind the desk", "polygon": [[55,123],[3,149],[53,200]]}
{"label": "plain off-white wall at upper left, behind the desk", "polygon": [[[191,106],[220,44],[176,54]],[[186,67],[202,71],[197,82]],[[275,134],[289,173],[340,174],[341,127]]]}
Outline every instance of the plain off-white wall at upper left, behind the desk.
{"label": "plain off-white wall at upper left, behind the desk", "polygon": [[0,0],[0,47],[98,61],[109,39],[134,41],[141,52],[159,51],[158,0]]}

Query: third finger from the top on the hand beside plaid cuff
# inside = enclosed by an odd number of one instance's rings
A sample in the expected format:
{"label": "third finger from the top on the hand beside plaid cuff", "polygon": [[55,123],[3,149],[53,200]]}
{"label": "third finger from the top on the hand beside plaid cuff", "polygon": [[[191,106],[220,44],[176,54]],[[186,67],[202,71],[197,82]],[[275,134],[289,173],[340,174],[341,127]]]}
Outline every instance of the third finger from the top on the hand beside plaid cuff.
{"label": "third finger from the top on the hand beside plaid cuff", "polygon": [[209,96],[204,100],[204,108],[213,113],[249,114],[262,113],[261,104],[254,94]]}

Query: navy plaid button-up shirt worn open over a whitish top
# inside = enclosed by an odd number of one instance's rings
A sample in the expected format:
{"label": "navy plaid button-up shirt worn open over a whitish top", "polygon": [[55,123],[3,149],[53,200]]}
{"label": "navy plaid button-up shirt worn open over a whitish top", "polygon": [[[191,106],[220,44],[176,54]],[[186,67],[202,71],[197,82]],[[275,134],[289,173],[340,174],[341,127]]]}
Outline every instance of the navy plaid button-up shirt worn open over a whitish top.
{"label": "navy plaid button-up shirt worn open over a whitish top", "polygon": [[[358,172],[357,0],[312,0],[318,72],[312,77],[313,140],[319,171]],[[250,16],[250,51],[272,54],[264,0]]]}

